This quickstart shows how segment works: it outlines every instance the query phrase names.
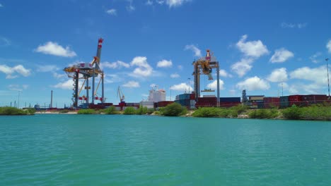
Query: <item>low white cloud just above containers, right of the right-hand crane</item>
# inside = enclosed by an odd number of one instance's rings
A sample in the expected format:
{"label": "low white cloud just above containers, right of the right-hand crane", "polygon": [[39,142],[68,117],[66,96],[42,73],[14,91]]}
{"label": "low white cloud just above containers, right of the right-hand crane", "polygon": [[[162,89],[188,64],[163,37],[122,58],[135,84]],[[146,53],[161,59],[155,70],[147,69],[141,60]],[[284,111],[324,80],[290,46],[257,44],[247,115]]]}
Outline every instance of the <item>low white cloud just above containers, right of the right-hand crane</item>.
{"label": "low white cloud just above containers, right of the right-hand crane", "polygon": [[266,90],[270,88],[269,82],[266,80],[260,79],[260,77],[250,77],[242,82],[238,82],[236,87],[238,89],[247,89],[247,90]]}

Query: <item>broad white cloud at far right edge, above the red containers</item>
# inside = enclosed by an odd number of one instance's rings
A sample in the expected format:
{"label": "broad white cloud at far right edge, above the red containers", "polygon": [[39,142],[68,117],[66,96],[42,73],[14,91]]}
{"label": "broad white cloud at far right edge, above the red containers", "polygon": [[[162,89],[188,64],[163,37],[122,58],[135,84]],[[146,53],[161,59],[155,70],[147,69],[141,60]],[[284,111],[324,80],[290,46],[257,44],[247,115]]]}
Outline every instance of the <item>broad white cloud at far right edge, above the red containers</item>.
{"label": "broad white cloud at far right edge, above the red containers", "polygon": [[327,82],[327,68],[325,66],[318,68],[302,67],[292,71],[290,77],[291,79],[310,80],[325,85]]}

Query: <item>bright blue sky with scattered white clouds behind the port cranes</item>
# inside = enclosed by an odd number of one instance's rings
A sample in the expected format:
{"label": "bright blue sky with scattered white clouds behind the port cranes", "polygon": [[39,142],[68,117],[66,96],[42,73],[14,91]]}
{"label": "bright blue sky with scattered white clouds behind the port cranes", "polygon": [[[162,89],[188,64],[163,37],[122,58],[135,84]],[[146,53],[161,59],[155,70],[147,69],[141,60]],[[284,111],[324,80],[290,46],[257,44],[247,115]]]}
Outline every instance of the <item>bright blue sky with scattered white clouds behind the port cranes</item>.
{"label": "bright blue sky with scattered white clouds behind the port cranes", "polygon": [[[71,104],[63,68],[91,62],[99,37],[105,97],[115,104],[118,86],[127,102],[146,99],[153,85],[168,99],[189,82],[192,90],[192,61],[206,49],[220,63],[221,97],[243,89],[327,94],[330,8],[296,0],[0,0],[0,106],[18,94],[20,106],[48,105],[51,90],[54,106]],[[202,76],[201,89],[214,85]]]}

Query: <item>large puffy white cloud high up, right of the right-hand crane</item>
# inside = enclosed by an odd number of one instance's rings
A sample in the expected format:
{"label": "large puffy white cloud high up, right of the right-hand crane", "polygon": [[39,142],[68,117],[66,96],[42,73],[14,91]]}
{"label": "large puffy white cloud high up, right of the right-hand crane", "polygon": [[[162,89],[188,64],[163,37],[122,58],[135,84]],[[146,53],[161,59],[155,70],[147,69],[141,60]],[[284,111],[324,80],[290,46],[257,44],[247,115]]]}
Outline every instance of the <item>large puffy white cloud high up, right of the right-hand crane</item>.
{"label": "large puffy white cloud high up, right of the right-hand crane", "polygon": [[245,42],[247,37],[247,35],[243,35],[243,37],[241,37],[239,42],[236,44],[238,49],[243,52],[245,56],[258,58],[269,53],[267,46],[265,46],[260,40]]}

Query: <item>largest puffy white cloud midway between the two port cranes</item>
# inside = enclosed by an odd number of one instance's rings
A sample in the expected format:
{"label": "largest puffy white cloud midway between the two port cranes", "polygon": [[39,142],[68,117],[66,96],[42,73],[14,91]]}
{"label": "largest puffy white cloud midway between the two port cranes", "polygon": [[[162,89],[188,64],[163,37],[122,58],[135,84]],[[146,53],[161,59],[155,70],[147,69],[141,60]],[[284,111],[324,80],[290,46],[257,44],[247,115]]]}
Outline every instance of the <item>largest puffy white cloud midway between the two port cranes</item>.
{"label": "largest puffy white cloud midway between the two port cranes", "polygon": [[152,75],[153,68],[149,66],[149,63],[147,63],[146,57],[135,57],[131,62],[131,66],[138,66],[131,74],[134,77],[149,77],[150,75]]}

